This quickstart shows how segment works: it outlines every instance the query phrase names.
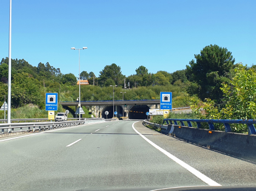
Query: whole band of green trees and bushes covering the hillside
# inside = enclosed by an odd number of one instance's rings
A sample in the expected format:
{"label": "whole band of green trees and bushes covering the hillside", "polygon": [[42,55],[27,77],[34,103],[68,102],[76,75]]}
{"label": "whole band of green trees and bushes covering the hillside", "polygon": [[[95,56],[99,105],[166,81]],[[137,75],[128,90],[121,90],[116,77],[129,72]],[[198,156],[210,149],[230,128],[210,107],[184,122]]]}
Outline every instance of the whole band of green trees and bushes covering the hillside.
{"label": "whole band of green trees and bushes covering the hillside", "polygon": [[[1,103],[7,96],[8,63],[8,58],[0,62]],[[160,99],[160,92],[166,91],[173,92],[173,108],[192,106],[195,118],[255,118],[255,66],[235,64],[235,58],[226,48],[203,47],[185,69],[173,73],[149,73],[143,65],[134,71],[125,76],[115,63],[106,65],[99,76],[92,71],[82,71],[81,80],[88,80],[90,85],[81,86],[81,100],[112,100],[110,85],[118,85],[115,99],[121,100],[119,92],[124,90],[126,80],[129,87],[125,89],[125,100]],[[60,101],[76,100],[79,97],[77,80],[75,75],[62,74],[60,68],[55,69],[48,62],[35,67],[24,59],[12,59],[12,117],[46,117],[47,92],[58,93]],[[207,115],[198,112],[202,106]],[[59,111],[64,110],[59,106]],[[3,118],[3,112],[0,116]]]}

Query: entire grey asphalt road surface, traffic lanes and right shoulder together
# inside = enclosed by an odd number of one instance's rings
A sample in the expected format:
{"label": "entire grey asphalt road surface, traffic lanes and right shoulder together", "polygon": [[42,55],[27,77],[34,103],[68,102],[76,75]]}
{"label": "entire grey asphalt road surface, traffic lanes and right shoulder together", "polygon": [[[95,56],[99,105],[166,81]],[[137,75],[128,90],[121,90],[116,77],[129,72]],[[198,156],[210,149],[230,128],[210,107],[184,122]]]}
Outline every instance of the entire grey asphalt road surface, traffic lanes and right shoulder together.
{"label": "entire grey asphalt road surface, traffic lanes and right shoulder together", "polygon": [[[256,164],[162,135],[141,122],[103,122],[28,135],[0,140],[0,190],[152,190],[208,186],[209,180],[256,186]],[[197,170],[205,177],[196,176]]]}

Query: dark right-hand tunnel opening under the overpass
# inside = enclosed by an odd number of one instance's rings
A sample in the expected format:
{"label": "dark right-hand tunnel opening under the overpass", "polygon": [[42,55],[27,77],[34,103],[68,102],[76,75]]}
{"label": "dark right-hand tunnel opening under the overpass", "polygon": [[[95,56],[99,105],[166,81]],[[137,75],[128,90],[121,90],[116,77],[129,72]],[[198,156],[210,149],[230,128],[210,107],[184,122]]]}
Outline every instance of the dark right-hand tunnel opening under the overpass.
{"label": "dark right-hand tunnel opening under the overpass", "polygon": [[147,105],[134,105],[129,111],[129,119],[131,120],[145,120],[147,118],[146,112],[149,111]]}

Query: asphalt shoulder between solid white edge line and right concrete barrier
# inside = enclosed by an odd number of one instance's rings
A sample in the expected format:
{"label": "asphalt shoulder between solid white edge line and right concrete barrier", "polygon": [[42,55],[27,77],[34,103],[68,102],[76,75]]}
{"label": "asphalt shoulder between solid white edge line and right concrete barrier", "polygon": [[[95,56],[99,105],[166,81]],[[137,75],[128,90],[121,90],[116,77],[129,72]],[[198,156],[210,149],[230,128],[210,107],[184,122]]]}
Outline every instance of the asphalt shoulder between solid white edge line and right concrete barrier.
{"label": "asphalt shoulder between solid white edge line and right concrete barrier", "polygon": [[256,186],[256,180],[252,180],[256,175],[255,164],[163,135],[145,127],[142,122],[136,122],[134,127],[156,145],[223,186]]}

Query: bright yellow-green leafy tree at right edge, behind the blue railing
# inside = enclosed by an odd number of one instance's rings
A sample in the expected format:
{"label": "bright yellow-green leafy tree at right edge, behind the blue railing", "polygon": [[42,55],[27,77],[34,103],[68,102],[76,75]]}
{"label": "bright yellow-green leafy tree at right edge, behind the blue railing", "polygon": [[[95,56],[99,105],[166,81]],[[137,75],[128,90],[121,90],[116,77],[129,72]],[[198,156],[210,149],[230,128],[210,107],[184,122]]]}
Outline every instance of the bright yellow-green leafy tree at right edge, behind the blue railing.
{"label": "bright yellow-green leafy tree at right edge, behind the blue railing", "polygon": [[[222,83],[223,107],[206,99],[203,109],[206,115],[201,115],[200,107],[191,105],[198,118],[223,120],[254,120],[256,118],[256,72],[241,63],[235,68],[235,76],[230,83]],[[224,130],[223,124],[217,130]],[[230,124],[232,132],[247,133],[247,126],[243,124]]]}

